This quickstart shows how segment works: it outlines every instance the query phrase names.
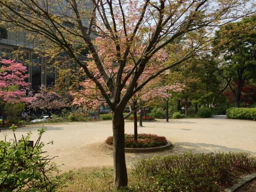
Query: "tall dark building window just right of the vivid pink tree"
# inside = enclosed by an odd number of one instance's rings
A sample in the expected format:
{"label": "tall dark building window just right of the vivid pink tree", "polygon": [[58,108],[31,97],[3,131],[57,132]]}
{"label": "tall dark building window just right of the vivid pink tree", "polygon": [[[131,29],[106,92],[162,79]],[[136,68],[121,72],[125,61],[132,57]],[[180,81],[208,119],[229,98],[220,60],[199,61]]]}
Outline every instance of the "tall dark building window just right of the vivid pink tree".
{"label": "tall dark building window just right of the vivid pink tree", "polygon": [[41,86],[41,58],[37,55],[32,55],[31,66],[31,89],[38,92]]}

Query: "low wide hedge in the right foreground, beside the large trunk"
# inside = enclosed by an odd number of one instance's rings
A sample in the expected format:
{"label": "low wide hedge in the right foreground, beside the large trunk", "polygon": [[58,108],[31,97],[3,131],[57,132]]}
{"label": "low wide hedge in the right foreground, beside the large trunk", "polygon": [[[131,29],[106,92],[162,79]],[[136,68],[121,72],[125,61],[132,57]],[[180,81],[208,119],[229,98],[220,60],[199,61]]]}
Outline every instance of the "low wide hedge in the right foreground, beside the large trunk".
{"label": "low wide hedge in the right foreground, beside the large trunk", "polygon": [[132,192],[216,192],[237,175],[256,170],[256,157],[246,153],[182,154],[154,157],[135,164],[138,182]]}

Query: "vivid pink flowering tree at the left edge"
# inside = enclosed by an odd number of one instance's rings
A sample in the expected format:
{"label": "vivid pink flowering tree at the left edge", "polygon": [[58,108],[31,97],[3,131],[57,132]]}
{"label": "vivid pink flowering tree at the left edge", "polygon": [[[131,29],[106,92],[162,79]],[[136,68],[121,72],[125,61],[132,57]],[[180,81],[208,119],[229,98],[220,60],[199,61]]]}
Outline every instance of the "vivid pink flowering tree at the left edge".
{"label": "vivid pink flowering tree at the left edge", "polygon": [[30,102],[26,96],[29,89],[29,83],[26,79],[26,66],[16,63],[14,60],[2,59],[0,68],[0,114],[2,123],[5,123],[7,107],[20,102]]}

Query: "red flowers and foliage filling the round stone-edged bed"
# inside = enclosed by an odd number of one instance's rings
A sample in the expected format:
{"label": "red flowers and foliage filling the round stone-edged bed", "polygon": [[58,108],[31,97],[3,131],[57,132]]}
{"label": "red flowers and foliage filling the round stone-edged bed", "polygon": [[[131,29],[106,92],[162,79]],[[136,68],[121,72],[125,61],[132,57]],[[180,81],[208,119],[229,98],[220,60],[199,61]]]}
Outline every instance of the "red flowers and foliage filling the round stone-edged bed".
{"label": "red flowers and foliage filling the round stone-edged bed", "polygon": [[[137,141],[134,141],[133,134],[125,134],[124,139],[125,148],[152,148],[164,146],[168,143],[165,137],[145,133],[138,134]],[[106,143],[113,145],[113,136],[108,137]]]}

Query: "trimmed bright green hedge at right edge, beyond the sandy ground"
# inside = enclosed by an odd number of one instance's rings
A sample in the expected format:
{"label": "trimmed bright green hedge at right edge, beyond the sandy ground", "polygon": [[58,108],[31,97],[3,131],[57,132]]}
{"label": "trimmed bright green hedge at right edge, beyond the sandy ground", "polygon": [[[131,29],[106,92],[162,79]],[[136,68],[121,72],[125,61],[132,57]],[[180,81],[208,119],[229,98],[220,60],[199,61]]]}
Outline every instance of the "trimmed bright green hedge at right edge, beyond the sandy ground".
{"label": "trimmed bright green hedge at right edge, beyond the sandy ground", "polygon": [[227,118],[256,120],[256,108],[229,108],[226,110]]}

